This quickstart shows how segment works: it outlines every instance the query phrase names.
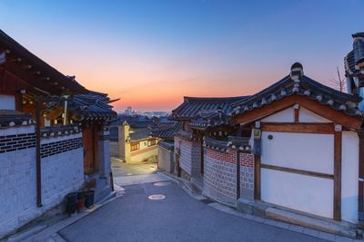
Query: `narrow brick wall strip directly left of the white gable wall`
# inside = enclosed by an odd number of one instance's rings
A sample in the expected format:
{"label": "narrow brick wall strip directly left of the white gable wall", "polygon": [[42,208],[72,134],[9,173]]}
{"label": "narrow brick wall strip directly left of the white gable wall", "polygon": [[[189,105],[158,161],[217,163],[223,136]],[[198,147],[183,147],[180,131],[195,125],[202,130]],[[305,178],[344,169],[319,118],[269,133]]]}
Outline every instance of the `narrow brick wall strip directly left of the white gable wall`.
{"label": "narrow brick wall strip directly left of the white gable wall", "polygon": [[254,199],[254,155],[240,153],[240,197]]}

